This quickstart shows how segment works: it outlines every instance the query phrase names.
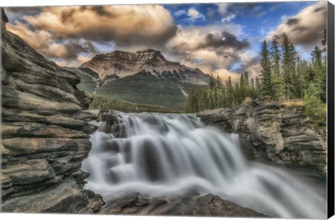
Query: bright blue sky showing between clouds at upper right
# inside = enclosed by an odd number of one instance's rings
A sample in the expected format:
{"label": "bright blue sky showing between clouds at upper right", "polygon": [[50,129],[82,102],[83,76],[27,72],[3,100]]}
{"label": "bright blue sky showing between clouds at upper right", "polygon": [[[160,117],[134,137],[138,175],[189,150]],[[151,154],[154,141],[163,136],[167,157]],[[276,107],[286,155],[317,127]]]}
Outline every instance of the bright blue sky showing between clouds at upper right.
{"label": "bright blue sky showing between clouds at upper right", "polygon": [[[234,3],[228,9],[228,15],[222,16],[218,12],[218,5],[215,3],[207,4],[179,4],[164,5],[170,11],[174,21],[184,27],[195,25],[198,27],[207,26],[213,23],[232,22],[243,27],[244,34],[239,36],[251,40],[251,48],[253,52],[259,52],[262,38],[267,36],[271,30],[275,30],[283,18],[297,15],[302,9],[315,4],[315,1],[295,1],[295,2],[273,2],[273,3]],[[204,15],[196,20],[190,20],[187,15],[188,10],[194,8]],[[212,12],[211,16],[209,12]],[[225,17],[231,17],[229,21],[221,21]],[[234,17],[234,18],[232,18]],[[309,53],[301,54],[308,57]]]}

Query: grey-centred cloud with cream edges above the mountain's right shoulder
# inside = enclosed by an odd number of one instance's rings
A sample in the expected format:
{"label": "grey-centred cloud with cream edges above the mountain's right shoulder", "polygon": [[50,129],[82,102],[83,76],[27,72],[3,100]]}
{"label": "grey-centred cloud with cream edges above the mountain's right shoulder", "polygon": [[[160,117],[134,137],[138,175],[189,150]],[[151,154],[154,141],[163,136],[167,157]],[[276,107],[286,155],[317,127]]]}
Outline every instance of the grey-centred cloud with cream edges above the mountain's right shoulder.
{"label": "grey-centred cloud with cream edges above the mountain's right shoulder", "polygon": [[204,73],[214,73],[242,61],[241,54],[249,50],[250,43],[239,40],[237,36],[241,34],[241,26],[232,23],[179,27],[165,51],[186,66],[200,68]]}

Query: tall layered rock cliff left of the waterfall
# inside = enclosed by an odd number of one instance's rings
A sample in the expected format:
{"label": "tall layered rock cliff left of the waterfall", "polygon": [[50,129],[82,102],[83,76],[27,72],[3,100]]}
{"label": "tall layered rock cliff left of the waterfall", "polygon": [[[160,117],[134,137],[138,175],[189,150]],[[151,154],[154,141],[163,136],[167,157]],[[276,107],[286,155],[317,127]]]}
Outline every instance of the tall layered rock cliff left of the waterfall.
{"label": "tall layered rock cliff left of the waterfall", "polygon": [[2,31],[2,212],[98,212],[101,196],[83,190],[81,168],[91,149],[82,110],[91,101],[75,74]]}

